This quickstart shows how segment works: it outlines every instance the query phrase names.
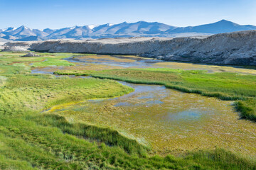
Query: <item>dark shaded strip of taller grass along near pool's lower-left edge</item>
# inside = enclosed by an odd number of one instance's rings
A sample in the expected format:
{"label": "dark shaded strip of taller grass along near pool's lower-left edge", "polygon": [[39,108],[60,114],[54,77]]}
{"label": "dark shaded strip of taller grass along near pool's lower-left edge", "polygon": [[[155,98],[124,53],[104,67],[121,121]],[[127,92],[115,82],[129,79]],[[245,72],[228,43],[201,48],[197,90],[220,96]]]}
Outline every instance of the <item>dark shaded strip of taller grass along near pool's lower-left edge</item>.
{"label": "dark shaded strip of taller grass along near pool's lower-left edge", "polygon": [[33,116],[31,120],[44,126],[53,126],[59,128],[63,133],[68,133],[76,137],[87,140],[104,142],[108,146],[117,146],[124,149],[129,154],[146,155],[149,147],[139,144],[136,140],[128,139],[110,128],[102,128],[96,125],[87,125],[85,123],[69,123],[63,116],[55,114],[41,114]]}

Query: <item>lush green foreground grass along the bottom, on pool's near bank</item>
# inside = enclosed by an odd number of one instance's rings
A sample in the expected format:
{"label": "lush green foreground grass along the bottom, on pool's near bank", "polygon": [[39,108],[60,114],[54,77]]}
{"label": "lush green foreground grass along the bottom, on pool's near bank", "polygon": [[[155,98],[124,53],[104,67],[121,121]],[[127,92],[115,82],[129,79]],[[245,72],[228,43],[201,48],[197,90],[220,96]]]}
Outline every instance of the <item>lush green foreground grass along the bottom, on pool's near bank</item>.
{"label": "lush green foreground grass along the bottom, on pool's near bank", "polygon": [[[255,162],[223,149],[191,152],[183,157],[153,157],[127,153],[120,143],[109,145],[104,136],[120,139],[114,131],[87,129],[58,115],[27,115],[0,120],[0,168],[11,169],[255,169]],[[49,120],[48,120],[49,119]],[[85,128],[85,129],[84,129]],[[90,134],[90,132],[93,132]],[[89,135],[88,135],[88,134]],[[92,135],[92,136],[91,136]],[[88,140],[93,137],[97,142]],[[116,138],[117,137],[117,138]],[[111,139],[111,138],[110,138]],[[122,139],[122,137],[121,137]],[[133,149],[139,145],[124,140]],[[133,147],[132,147],[133,146]],[[141,147],[139,147],[141,148]],[[15,162],[15,164],[13,164]]]}

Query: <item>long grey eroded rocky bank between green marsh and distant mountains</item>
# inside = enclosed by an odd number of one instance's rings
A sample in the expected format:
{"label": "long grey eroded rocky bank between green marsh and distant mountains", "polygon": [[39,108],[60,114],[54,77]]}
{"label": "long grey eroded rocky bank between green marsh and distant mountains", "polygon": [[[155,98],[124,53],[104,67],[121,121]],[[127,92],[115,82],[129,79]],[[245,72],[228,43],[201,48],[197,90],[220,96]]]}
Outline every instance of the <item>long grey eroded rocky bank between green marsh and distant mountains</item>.
{"label": "long grey eroded rocky bank between green marsh and distant mountains", "polygon": [[[188,38],[107,38],[25,43],[23,47],[46,52],[140,55],[169,61],[256,65],[256,30]],[[8,45],[14,43],[9,42]]]}

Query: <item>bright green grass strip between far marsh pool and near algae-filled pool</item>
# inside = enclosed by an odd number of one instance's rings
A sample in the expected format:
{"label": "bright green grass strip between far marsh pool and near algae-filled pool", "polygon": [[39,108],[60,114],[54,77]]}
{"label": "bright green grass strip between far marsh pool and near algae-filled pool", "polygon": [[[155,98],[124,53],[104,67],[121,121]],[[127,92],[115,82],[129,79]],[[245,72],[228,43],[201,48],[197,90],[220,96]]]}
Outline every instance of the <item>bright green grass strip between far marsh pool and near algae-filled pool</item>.
{"label": "bright green grass strip between far marsh pool and near algae-filled pool", "polygon": [[[238,104],[242,117],[255,120],[256,77],[237,73],[213,73],[185,71],[181,69],[123,69],[106,70],[92,74],[92,77],[116,79],[139,84],[160,84],[203,96],[223,100],[245,100]],[[246,101],[250,101],[248,104]],[[247,107],[247,109],[245,108]]]}

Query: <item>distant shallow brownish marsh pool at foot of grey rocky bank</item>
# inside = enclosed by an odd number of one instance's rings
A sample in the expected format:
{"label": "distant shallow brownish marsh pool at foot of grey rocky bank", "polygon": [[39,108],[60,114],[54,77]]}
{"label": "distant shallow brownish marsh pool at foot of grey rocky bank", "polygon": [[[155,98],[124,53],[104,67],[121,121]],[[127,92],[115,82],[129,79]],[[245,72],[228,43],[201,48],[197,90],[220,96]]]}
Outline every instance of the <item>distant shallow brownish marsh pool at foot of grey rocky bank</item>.
{"label": "distant shallow brownish marsh pool at foot of grey rocky bank", "polygon": [[171,68],[171,69],[198,69],[208,72],[238,72],[242,74],[256,74],[255,69],[247,69],[239,66],[217,66],[209,64],[191,64],[184,62],[165,62],[152,58],[122,55],[81,55],[80,57],[67,58],[70,62],[96,65],[107,65],[121,68]]}

